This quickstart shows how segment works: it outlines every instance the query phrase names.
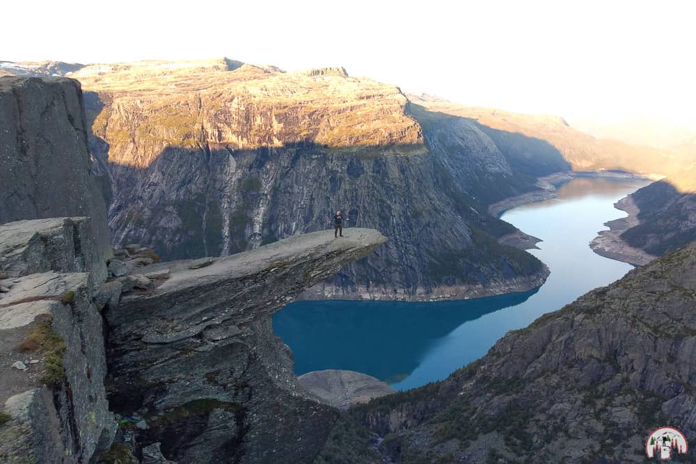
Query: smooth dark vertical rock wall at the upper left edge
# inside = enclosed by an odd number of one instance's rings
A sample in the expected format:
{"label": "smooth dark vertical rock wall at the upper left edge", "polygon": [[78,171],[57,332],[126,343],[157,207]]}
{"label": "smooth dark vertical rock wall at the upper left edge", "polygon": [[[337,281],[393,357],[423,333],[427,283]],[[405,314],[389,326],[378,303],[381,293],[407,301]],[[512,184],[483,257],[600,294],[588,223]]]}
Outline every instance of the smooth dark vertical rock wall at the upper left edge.
{"label": "smooth dark vertical rock wall at the upper left edge", "polygon": [[[88,216],[103,266],[111,243],[100,182],[90,174],[80,84],[1,77],[0,127],[0,224]],[[106,271],[95,275],[105,278]]]}

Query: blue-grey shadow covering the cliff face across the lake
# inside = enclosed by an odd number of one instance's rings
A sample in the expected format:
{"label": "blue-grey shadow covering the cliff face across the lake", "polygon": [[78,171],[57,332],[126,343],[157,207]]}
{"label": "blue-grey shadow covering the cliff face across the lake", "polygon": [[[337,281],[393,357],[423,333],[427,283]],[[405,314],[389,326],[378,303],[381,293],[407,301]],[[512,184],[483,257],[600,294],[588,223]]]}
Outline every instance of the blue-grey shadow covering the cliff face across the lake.
{"label": "blue-grey shadow covering the cliff face across the lake", "polygon": [[[163,259],[229,255],[328,229],[331,211],[340,209],[349,226],[390,238],[334,279],[347,292],[365,285],[409,294],[443,285],[492,288],[541,272],[535,257],[498,243],[515,228],[487,206],[569,168],[546,141],[409,104],[425,145],[306,141],[235,150],[210,143],[200,127],[177,129],[189,138],[173,145],[140,133],[109,136],[102,117],[109,98],[85,93],[90,147],[111,179],[104,194],[116,246],[141,243]],[[113,162],[114,150],[141,166]]]}

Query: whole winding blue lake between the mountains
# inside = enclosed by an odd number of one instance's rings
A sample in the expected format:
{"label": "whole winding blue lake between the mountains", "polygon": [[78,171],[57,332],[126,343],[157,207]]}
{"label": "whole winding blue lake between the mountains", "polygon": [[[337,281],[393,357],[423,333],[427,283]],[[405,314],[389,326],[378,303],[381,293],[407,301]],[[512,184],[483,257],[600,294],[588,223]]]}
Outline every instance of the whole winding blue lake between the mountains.
{"label": "whole winding blue lake between the mountains", "polygon": [[511,209],[503,220],[542,239],[530,250],[551,270],[525,293],[434,303],[300,301],[274,315],[294,353],[295,373],[364,372],[407,390],[441,380],[484,355],[508,330],[528,326],[632,266],[596,255],[590,240],[603,223],[626,216],[613,204],[647,182],[573,179],[558,197]]}

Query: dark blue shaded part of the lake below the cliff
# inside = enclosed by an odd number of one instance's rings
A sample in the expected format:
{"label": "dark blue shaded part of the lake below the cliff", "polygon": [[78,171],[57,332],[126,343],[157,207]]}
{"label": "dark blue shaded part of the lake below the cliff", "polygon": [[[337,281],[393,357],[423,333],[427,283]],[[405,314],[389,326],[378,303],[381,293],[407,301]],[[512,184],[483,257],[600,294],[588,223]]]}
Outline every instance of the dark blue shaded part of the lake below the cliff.
{"label": "dark blue shaded part of the lake below the cliff", "polygon": [[274,329],[292,348],[298,374],[340,366],[396,381],[461,324],[519,305],[535,293],[434,303],[301,301],[276,314]]}

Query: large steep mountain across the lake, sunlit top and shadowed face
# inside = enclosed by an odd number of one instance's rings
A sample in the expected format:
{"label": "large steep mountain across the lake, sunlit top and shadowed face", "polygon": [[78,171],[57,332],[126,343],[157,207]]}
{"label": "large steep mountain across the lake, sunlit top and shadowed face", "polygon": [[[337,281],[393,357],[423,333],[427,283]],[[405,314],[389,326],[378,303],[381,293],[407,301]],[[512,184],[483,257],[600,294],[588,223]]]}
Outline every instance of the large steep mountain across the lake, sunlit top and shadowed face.
{"label": "large steep mountain across the lake, sunlit top and shadowed face", "polygon": [[534,162],[518,175],[473,122],[341,70],[176,65],[74,74],[91,90],[115,243],[165,259],[226,256],[326,229],[341,209],[391,240],[307,298],[462,298],[544,281],[537,259],[498,243],[514,227],[486,211],[535,188]]}

